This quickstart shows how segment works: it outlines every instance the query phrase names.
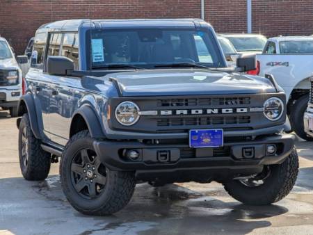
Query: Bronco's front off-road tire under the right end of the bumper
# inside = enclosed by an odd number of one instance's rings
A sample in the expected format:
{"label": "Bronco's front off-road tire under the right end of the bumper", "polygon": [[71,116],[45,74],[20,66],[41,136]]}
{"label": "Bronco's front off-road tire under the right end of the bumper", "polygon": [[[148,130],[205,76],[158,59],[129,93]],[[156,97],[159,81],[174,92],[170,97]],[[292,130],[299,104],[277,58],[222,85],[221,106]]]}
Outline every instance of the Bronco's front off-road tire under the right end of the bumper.
{"label": "Bronco's front off-road tire under the right end of the bumper", "polygon": [[296,149],[280,165],[271,165],[271,175],[261,186],[250,188],[238,180],[227,181],[224,188],[234,199],[249,205],[267,205],[282,200],[296,183],[299,161]]}

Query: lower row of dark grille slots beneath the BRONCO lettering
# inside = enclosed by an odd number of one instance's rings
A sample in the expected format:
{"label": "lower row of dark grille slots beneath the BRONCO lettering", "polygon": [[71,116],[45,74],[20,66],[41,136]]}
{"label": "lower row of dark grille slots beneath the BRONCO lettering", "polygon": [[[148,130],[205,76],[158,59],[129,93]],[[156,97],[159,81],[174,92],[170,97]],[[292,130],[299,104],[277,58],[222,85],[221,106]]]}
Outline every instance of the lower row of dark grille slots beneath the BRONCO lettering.
{"label": "lower row of dark grille slots beneath the BRONCO lettering", "polygon": [[248,124],[250,116],[170,117],[157,120],[158,127],[204,126],[214,124]]}

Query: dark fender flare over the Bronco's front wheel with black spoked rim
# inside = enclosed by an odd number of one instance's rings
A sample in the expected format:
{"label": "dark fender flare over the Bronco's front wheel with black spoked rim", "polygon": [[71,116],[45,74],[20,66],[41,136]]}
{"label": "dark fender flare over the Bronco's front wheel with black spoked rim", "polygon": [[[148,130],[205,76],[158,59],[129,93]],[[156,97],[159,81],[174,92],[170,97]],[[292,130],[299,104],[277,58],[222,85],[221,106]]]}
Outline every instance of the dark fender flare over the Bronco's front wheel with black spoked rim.
{"label": "dark fender flare over the Bronco's front wheel with black spoked rim", "polygon": [[105,137],[98,115],[88,104],[81,106],[81,108],[74,113],[70,124],[70,138],[85,129],[88,129],[92,138]]}

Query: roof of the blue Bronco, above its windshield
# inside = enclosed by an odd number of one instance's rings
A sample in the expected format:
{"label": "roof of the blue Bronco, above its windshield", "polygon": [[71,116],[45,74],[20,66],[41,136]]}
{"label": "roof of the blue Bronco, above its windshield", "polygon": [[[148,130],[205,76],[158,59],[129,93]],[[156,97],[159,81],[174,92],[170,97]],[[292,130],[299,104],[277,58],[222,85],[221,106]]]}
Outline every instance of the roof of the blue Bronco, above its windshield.
{"label": "roof of the blue Bronco, above its windshield", "polygon": [[58,22],[51,22],[40,26],[38,31],[78,31],[79,27],[85,26],[90,28],[106,27],[195,27],[195,24],[207,24],[202,19],[70,19]]}

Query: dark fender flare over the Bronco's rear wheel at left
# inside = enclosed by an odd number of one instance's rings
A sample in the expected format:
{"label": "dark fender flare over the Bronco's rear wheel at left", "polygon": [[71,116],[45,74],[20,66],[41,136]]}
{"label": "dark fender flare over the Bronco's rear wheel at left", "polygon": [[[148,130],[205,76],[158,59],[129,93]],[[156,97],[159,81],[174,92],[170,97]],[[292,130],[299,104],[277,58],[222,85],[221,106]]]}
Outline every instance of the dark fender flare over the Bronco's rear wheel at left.
{"label": "dark fender flare over the Bronco's rear wheel at left", "polygon": [[[24,106],[26,106],[26,110]],[[31,123],[31,130],[33,131],[35,138],[42,140],[44,138],[44,135],[42,131],[40,131],[40,127],[39,127],[39,124],[41,122],[38,122],[38,115],[37,115],[36,108],[35,108],[35,101],[31,93],[27,93],[26,95],[23,95],[21,98],[19,98],[19,103],[17,105],[17,115],[22,116],[24,113],[28,113],[29,115],[29,122]],[[18,118],[17,128],[19,128],[20,121],[21,121],[21,118]]]}

